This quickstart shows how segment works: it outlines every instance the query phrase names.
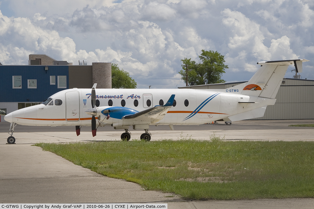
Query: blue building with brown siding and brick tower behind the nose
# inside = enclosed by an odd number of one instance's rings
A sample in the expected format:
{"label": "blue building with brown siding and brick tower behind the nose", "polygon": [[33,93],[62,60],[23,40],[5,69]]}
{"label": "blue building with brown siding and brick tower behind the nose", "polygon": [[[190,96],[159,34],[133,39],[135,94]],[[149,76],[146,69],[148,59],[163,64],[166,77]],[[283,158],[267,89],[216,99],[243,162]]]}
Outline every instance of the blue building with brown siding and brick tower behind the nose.
{"label": "blue building with brown siding and brick tower behind the nose", "polygon": [[[71,65],[47,55],[30,55],[29,65],[0,65],[0,122],[4,122],[5,114],[39,104],[64,89],[91,88],[93,83],[100,88],[111,88],[111,63],[87,65],[79,60],[79,64]],[[103,71],[107,75],[104,78],[99,76]],[[108,79],[108,73],[110,82],[99,80]],[[98,80],[93,79],[93,74]]]}

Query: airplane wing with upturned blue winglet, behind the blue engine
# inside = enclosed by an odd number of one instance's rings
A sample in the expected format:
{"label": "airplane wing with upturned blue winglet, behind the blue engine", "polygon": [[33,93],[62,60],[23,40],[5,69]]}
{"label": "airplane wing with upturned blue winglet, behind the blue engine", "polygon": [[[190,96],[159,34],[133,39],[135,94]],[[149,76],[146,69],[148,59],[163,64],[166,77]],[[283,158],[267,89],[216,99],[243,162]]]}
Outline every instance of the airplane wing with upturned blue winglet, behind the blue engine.
{"label": "airplane wing with upturned blue winglet, behind the blue engine", "polygon": [[136,119],[138,121],[154,121],[154,123],[160,121],[165,117],[165,114],[172,107],[175,95],[172,94],[169,100],[163,106],[155,106],[141,112],[137,112],[131,115],[123,116],[122,119]]}

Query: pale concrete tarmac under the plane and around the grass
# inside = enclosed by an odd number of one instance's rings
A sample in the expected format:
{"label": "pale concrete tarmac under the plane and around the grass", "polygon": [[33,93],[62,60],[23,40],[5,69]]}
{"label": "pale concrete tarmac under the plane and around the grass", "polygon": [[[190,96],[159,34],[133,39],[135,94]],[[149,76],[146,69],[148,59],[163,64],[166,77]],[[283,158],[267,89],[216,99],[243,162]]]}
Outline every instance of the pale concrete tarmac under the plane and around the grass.
{"label": "pale concrete tarmac under the plane and around the grass", "polygon": [[[314,141],[314,128],[289,127],[290,124],[314,123],[314,120],[238,121],[200,126],[151,128],[152,140],[194,138],[210,140],[215,134],[225,140],[285,140]],[[5,128],[3,128],[5,127]],[[138,184],[99,175],[63,159],[56,154],[31,146],[38,142],[68,143],[120,140],[122,131],[97,130],[76,136],[73,127],[27,127],[18,132],[16,144],[6,144],[7,123],[0,123],[0,203],[168,203],[168,208],[313,208],[314,199],[185,201],[174,194],[144,191]],[[23,127],[25,128],[25,127]],[[48,129],[47,129],[48,128]],[[53,127],[58,128],[58,127]],[[90,127],[86,127],[90,128]],[[109,129],[111,128],[111,129]],[[191,130],[192,129],[192,130]],[[194,129],[194,130],[193,130]],[[44,130],[44,131],[42,131]],[[107,130],[105,128],[105,130]],[[143,131],[132,131],[139,138]],[[131,138],[131,140],[132,140]]]}

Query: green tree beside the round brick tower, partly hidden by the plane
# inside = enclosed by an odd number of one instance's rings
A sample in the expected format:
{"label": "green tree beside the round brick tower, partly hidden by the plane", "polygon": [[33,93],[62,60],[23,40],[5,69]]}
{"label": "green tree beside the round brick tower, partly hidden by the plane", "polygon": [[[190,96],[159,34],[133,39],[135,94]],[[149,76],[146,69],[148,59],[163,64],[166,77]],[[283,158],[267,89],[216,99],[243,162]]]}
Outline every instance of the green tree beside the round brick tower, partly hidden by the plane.
{"label": "green tree beside the round brick tower, partly hidden by the plane", "polygon": [[117,64],[111,64],[111,87],[115,89],[135,89],[137,83],[130,74],[123,69],[120,70]]}

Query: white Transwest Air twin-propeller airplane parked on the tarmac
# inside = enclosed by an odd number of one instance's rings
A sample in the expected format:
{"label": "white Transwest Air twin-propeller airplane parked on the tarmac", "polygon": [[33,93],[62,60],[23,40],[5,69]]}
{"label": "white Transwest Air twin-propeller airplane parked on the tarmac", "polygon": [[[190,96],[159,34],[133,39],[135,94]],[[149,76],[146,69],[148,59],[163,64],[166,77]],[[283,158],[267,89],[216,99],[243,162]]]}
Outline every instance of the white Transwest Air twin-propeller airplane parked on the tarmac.
{"label": "white Transwest Air twin-propeller airplane parked on the tarmac", "polygon": [[[302,72],[302,62],[278,60],[257,62],[261,67],[252,78],[227,89],[66,89],[41,104],[8,113],[14,144],[16,124],[28,126],[91,126],[93,137],[99,126],[124,129],[122,140],[130,140],[133,130],[144,129],[140,139],[150,141],[149,125],[199,125],[223,119],[232,121],[263,117],[266,107],[274,105],[289,65]],[[98,127],[96,127],[98,124]]]}

